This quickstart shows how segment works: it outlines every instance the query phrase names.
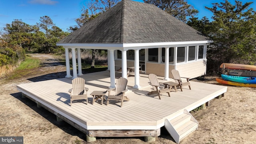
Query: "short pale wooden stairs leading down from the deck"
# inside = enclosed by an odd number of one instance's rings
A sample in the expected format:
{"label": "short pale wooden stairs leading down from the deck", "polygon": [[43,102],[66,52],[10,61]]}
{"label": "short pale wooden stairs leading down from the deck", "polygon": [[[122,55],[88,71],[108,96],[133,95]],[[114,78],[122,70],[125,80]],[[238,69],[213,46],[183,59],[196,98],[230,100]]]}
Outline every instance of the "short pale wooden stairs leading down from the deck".
{"label": "short pale wooden stairs leading down from the deck", "polygon": [[184,112],[179,114],[176,118],[172,120],[165,119],[164,126],[174,141],[179,144],[180,140],[198,129],[198,122],[188,110],[184,109]]}

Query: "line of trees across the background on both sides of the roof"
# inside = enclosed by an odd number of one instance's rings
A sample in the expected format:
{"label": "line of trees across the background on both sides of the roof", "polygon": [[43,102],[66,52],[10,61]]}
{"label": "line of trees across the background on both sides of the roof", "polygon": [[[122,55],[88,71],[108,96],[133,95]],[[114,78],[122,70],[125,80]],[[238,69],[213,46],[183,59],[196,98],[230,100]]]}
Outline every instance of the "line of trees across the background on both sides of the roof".
{"label": "line of trees across the background on both sides of the roof", "polygon": [[[55,26],[50,17],[40,17],[40,23],[28,25],[22,20],[14,20],[6,24],[0,41],[0,66],[8,63],[16,64],[24,60],[25,52],[64,53],[56,42],[84,26],[120,0],[90,0],[81,8],[81,15],[75,20],[77,25],[62,31]],[[172,16],[195,28],[214,43],[207,48],[207,71],[216,73],[221,63],[240,63],[255,65],[256,60],[256,15],[250,5],[253,2],[242,3],[228,0],[213,3],[205,7],[213,13],[198,19],[196,10],[187,0],[144,0],[154,4]],[[92,67],[95,55],[99,50],[91,50]],[[100,52],[102,53],[102,52]],[[104,53],[104,52],[103,52]],[[11,60],[10,60],[11,59]],[[9,61],[10,60],[10,61]]]}

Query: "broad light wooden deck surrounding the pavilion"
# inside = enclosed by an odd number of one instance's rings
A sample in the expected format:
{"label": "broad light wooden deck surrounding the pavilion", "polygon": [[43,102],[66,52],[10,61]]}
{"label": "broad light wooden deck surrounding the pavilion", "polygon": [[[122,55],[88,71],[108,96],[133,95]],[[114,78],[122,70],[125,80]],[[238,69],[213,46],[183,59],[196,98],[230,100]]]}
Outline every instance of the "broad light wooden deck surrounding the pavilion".
{"label": "broad light wooden deck surrounding the pavilion", "polygon": [[[92,96],[86,102],[72,102],[68,90],[72,88],[71,78],[60,78],[28,84],[17,85],[20,92],[47,108],[65,121],[74,123],[76,128],[86,130],[157,130],[164,126],[167,118],[171,120],[176,115],[187,109],[188,111],[216,98],[226,92],[226,86],[192,82],[191,89],[184,87],[183,92],[171,92],[161,96],[148,96],[152,90],[149,85],[148,75],[140,74],[140,88],[136,90],[134,77],[128,77],[126,96],[130,101],[125,101],[122,108],[120,102],[110,101],[109,105],[101,105],[101,100],[92,105]],[[94,90],[107,90],[110,86],[109,72],[96,72],[80,76],[86,80],[88,94]],[[161,77],[159,81],[163,82]],[[88,131],[87,131],[88,132]]]}

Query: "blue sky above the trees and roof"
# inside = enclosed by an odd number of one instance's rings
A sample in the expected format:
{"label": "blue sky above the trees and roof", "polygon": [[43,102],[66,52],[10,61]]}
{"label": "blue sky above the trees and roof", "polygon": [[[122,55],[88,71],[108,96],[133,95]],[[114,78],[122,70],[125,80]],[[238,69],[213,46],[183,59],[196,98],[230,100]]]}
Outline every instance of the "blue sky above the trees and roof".
{"label": "blue sky above the trees and roof", "polygon": [[[69,26],[76,25],[74,21],[80,16],[82,6],[89,0],[0,0],[0,31],[6,24],[11,24],[14,19],[22,19],[23,22],[35,25],[40,22],[41,16],[49,16],[53,23],[66,31]],[[143,0],[135,0],[143,2]],[[240,0],[251,2],[254,0]],[[199,11],[198,18],[203,16],[209,19],[212,12],[204,6],[212,7],[212,3],[224,2],[224,0],[188,0],[188,3]],[[229,0],[234,4],[234,0]],[[256,10],[256,2],[251,5]]]}

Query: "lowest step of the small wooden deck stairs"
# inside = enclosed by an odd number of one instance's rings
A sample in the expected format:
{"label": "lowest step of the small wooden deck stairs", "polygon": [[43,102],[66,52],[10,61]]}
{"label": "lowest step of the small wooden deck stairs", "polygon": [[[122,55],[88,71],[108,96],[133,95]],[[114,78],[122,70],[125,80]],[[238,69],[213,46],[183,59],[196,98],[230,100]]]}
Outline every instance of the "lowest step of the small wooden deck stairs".
{"label": "lowest step of the small wooden deck stairs", "polygon": [[185,136],[187,136],[188,134],[190,134],[191,132],[193,132],[194,130],[196,130],[197,127],[198,127],[198,124],[193,121],[186,122],[186,124],[180,126],[176,130],[180,135],[180,140]]}

